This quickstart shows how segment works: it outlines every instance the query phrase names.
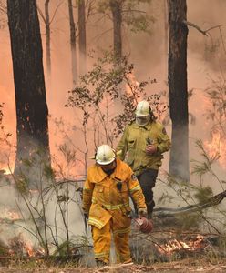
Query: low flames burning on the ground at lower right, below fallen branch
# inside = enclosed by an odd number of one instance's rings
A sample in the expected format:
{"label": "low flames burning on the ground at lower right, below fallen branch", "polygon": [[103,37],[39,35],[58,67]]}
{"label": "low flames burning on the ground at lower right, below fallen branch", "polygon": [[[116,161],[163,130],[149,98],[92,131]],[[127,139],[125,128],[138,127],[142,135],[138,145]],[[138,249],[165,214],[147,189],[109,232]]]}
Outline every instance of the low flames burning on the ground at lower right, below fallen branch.
{"label": "low flames burning on the ground at lower right, below fallen branch", "polygon": [[156,244],[155,247],[158,248],[160,254],[171,255],[176,251],[195,251],[205,248],[206,242],[204,242],[203,236],[198,235],[195,240],[182,241],[174,238],[163,245]]}

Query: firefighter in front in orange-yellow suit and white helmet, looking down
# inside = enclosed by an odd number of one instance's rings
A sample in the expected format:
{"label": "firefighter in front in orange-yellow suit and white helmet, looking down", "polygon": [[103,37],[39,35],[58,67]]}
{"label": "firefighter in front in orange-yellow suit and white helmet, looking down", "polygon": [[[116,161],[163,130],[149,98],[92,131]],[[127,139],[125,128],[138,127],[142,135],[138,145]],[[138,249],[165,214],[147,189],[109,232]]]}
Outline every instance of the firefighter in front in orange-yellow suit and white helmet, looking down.
{"label": "firefighter in front in orange-yellow suit and white helmet, looking down", "polygon": [[108,265],[111,233],[118,263],[131,262],[128,238],[131,224],[131,196],[146,216],[147,209],[137,177],[130,167],[116,158],[108,145],[98,147],[96,164],[88,168],[83,188],[83,209],[92,226],[95,259],[98,267]]}

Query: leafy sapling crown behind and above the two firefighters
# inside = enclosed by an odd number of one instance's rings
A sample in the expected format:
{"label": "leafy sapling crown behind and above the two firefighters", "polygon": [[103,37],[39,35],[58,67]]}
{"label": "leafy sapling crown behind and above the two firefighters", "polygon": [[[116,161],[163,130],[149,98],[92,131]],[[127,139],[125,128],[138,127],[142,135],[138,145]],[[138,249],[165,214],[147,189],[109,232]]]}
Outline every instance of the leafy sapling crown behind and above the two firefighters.
{"label": "leafy sapling crown behind and above the two firefighters", "polygon": [[[107,143],[112,143],[113,136],[117,137],[134,118],[134,110],[140,97],[146,98],[158,114],[167,109],[165,106],[159,110],[160,95],[147,96],[145,92],[146,86],[156,83],[156,80],[148,79],[137,83],[132,80],[133,73],[134,66],[128,63],[125,56],[116,63],[112,53],[107,52],[102,58],[98,58],[87,75],[81,77],[80,84],[69,91],[66,106],[82,110],[83,126],[87,126],[90,119],[98,116],[95,128],[102,126],[106,132]],[[115,103],[119,111],[115,111]],[[119,112],[118,115],[110,114],[113,108],[114,112]]]}

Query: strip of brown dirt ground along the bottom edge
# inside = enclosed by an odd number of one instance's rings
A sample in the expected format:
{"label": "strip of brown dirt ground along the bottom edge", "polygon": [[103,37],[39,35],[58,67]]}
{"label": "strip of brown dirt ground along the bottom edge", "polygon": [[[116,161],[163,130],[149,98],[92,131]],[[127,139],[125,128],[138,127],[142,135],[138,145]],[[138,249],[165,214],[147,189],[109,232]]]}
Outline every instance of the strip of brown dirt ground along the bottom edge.
{"label": "strip of brown dirt ground along the bottom edge", "polygon": [[34,266],[33,268],[22,267],[8,267],[0,268],[0,273],[131,273],[131,272],[153,272],[153,273],[187,273],[187,272],[203,272],[203,273],[223,273],[226,272],[226,259],[218,260],[214,263],[200,259],[186,259],[176,262],[155,263],[151,266],[130,265],[120,266],[114,265],[104,268],[40,268]]}

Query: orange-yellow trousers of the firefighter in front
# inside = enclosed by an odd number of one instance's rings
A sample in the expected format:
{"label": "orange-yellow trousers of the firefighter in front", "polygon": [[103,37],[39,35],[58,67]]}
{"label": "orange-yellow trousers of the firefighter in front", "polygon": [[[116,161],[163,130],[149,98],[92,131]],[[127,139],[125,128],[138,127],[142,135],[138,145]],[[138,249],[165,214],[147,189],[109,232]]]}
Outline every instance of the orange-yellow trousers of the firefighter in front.
{"label": "orange-yellow trousers of the firefighter in front", "polygon": [[123,263],[131,261],[130,249],[128,245],[129,232],[130,227],[116,229],[114,227],[114,221],[112,217],[110,218],[108,223],[101,229],[92,226],[95,259],[109,263],[112,234],[115,243],[117,262]]}

